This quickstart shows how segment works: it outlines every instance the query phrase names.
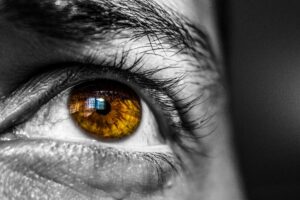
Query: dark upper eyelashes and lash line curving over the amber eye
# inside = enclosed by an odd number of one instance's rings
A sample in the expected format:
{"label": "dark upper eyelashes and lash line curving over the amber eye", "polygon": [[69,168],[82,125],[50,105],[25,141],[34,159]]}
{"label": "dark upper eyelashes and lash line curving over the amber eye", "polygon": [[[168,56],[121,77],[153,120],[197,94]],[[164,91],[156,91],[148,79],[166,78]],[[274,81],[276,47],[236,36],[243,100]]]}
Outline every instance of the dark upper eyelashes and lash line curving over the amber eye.
{"label": "dark upper eyelashes and lash line curving over the amber eye", "polygon": [[[155,103],[158,103],[160,110],[163,110],[163,117],[167,118],[166,121],[171,122],[167,124],[171,127],[171,129],[169,129],[171,133],[162,136],[169,139],[171,143],[176,143],[176,145],[180,146],[183,150],[193,151],[194,149],[184,145],[183,140],[187,137],[197,139],[196,136],[192,134],[193,130],[197,127],[195,126],[194,121],[190,120],[188,116],[188,110],[196,104],[196,101],[178,99],[177,93],[179,91],[172,89],[176,88],[172,86],[179,85],[179,82],[183,77],[168,80],[154,79],[153,75],[163,69],[154,68],[151,70],[141,70],[144,65],[142,56],[137,58],[129,67],[126,67],[126,61],[127,54],[123,53],[119,61],[117,61],[117,57],[115,57],[113,62],[102,61],[101,63],[97,63],[96,57],[90,56],[79,62],[52,65],[56,68],[57,66],[64,66],[64,69],[58,70],[63,70],[65,74],[67,74],[67,77],[62,84],[59,84],[54,89],[46,92],[45,95],[40,97],[38,104],[31,105],[31,107],[36,106],[39,109],[43,104],[46,104],[52,98],[59,95],[60,92],[63,92],[69,87],[74,87],[77,84],[93,79],[101,79],[102,77],[97,77],[97,75],[95,75],[97,73],[95,72],[98,72],[98,74],[104,73],[110,75],[110,79],[112,77],[116,80],[121,78],[128,84],[131,83],[131,85],[138,85],[138,88],[146,90],[146,93],[148,93],[147,96],[151,96]],[[50,72],[50,76],[51,74],[58,74],[58,72],[55,73],[55,71],[56,70]],[[47,75],[44,74],[44,76],[46,77]],[[140,85],[143,85],[144,87],[141,88],[139,87]],[[177,98],[175,98],[175,96]],[[25,112],[26,111],[23,111],[23,113]],[[31,116],[33,116],[34,113],[35,112],[31,113],[30,116],[19,123],[11,125],[10,127],[13,129],[18,124],[26,122]],[[178,120],[175,121],[174,119]]]}

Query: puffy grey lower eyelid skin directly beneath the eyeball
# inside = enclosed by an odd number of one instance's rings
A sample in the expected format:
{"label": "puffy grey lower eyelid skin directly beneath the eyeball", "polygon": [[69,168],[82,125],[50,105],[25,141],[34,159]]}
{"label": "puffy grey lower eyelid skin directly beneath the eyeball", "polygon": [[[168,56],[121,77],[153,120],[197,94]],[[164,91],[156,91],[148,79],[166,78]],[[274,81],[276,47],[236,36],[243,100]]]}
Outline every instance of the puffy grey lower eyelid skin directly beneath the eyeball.
{"label": "puffy grey lower eyelid skin directly beneath the eyeball", "polygon": [[[163,189],[179,170],[176,159],[164,153],[129,153],[49,140],[3,145],[2,161],[7,160],[14,170],[29,169],[78,189],[84,183],[106,192],[151,193]],[[15,166],[11,160],[15,160]]]}

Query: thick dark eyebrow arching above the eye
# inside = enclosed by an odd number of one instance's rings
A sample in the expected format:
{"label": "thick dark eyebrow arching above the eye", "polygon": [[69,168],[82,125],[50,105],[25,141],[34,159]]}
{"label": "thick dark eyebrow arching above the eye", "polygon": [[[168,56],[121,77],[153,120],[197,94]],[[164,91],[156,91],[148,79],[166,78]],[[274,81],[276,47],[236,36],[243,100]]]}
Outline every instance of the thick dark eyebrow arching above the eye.
{"label": "thick dark eyebrow arching above the eye", "polygon": [[56,39],[107,42],[146,36],[151,47],[153,42],[168,43],[178,53],[214,60],[204,30],[153,0],[2,0],[1,13]]}

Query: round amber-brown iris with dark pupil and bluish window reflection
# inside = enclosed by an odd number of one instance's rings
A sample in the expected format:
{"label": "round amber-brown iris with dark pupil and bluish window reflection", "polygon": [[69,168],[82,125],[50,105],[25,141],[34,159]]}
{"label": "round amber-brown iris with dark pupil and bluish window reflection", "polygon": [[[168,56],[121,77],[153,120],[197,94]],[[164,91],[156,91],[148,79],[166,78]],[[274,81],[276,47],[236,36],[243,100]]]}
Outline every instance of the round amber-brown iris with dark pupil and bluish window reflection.
{"label": "round amber-brown iris with dark pupil and bluish window reflection", "polygon": [[69,96],[74,122],[98,139],[121,139],[134,133],[141,121],[138,95],[128,86],[97,80],[74,87]]}

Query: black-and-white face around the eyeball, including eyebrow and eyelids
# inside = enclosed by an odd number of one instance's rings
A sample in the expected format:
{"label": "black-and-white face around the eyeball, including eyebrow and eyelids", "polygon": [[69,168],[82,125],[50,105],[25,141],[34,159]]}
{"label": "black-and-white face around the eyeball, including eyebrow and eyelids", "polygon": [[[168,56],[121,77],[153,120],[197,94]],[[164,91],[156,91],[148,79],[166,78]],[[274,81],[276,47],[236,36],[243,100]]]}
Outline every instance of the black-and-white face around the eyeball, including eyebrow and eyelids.
{"label": "black-and-white face around the eyeball, including eyebrow and eyelids", "polygon": [[[35,7],[43,12],[27,12],[26,2],[0,0],[1,199],[243,199],[212,1],[91,0],[96,12],[82,1],[54,0]],[[56,18],[64,8],[68,14]],[[42,129],[63,109],[55,96],[92,77],[117,79],[138,90],[171,152],[61,140]],[[160,98],[172,99],[172,128],[164,127],[168,102],[154,103]],[[54,114],[44,117],[50,105],[54,111],[48,113]],[[59,135],[70,134],[64,130]]]}

